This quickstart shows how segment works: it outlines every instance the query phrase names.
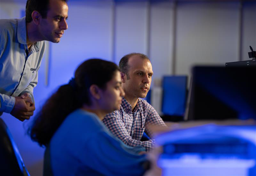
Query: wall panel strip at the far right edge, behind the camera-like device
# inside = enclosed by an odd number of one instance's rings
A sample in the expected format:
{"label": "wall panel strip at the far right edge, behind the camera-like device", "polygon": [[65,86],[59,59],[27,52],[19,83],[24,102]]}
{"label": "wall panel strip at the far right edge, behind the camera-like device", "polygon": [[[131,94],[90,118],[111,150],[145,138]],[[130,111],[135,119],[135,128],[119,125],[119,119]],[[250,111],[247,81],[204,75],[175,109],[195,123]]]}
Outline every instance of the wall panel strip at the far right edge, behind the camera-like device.
{"label": "wall panel strip at the far right edge, behind the camera-like device", "polygon": [[244,2],[242,36],[242,60],[251,60],[248,57],[248,52],[251,52],[249,46],[256,51],[256,2]]}

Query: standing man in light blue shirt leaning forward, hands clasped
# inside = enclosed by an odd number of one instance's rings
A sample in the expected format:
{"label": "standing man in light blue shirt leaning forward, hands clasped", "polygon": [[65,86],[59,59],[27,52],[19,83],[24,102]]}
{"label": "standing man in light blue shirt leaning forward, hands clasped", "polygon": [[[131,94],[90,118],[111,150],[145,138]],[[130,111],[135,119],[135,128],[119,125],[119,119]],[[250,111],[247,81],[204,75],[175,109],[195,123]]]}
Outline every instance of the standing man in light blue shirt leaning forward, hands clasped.
{"label": "standing man in light blue shirt leaning forward, hands clasped", "polygon": [[33,115],[44,40],[60,42],[67,18],[66,0],[28,0],[26,17],[0,20],[0,116],[24,121]]}

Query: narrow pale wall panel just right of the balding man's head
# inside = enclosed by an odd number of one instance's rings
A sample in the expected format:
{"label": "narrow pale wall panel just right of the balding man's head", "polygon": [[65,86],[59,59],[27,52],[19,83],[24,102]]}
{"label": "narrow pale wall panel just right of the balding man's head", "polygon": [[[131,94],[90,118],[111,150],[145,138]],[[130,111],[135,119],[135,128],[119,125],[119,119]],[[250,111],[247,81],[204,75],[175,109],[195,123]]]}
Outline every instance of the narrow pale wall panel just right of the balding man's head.
{"label": "narrow pale wall panel just right of the balding man's head", "polygon": [[172,73],[173,1],[151,2],[150,60],[154,79]]}

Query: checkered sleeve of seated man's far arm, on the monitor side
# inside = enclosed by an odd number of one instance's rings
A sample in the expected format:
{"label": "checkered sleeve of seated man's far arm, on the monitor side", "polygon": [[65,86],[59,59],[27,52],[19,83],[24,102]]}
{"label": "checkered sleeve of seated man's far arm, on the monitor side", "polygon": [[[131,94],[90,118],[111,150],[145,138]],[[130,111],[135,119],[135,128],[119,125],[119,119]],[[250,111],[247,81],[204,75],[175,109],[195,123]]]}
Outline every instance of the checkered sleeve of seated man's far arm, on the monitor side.
{"label": "checkered sleeve of seated man's far arm, on the monitor side", "polygon": [[159,116],[157,113],[156,109],[153,108],[148,102],[146,102],[146,109],[147,109],[147,117],[145,121],[145,133],[152,138],[153,133],[147,128],[148,124],[154,124],[154,125],[159,125],[159,126],[164,126],[167,127],[167,125],[164,123],[163,119]]}

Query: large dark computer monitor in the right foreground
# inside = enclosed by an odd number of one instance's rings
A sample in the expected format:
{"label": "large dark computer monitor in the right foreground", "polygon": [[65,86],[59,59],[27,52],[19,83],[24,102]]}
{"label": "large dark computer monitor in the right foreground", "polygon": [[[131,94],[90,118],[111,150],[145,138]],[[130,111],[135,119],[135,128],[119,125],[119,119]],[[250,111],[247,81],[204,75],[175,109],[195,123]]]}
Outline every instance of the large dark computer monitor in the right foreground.
{"label": "large dark computer monitor in the right foreground", "polygon": [[194,67],[186,119],[256,119],[255,76],[253,67]]}

